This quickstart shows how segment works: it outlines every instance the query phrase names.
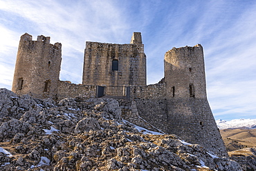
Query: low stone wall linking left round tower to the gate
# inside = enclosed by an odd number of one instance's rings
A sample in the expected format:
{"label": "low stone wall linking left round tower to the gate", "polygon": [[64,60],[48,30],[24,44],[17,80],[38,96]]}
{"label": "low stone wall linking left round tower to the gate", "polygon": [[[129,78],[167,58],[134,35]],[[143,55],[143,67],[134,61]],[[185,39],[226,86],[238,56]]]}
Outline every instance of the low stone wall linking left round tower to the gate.
{"label": "low stone wall linking left round tower to the gate", "polygon": [[87,86],[82,84],[68,83],[68,81],[58,81],[57,99],[66,97],[81,96],[84,98],[93,98],[96,94],[96,86]]}

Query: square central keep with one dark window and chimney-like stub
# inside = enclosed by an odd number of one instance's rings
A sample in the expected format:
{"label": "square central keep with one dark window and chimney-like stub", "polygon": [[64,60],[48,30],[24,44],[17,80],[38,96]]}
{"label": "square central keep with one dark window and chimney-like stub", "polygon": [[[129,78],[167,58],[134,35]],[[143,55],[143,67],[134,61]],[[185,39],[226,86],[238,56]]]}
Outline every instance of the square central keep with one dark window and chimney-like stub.
{"label": "square central keep with one dark window and chimney-like stub", "polygon": [[129,44],[86,41],[82,84],[145,86],[146,56],[140,32],[134,32]]}

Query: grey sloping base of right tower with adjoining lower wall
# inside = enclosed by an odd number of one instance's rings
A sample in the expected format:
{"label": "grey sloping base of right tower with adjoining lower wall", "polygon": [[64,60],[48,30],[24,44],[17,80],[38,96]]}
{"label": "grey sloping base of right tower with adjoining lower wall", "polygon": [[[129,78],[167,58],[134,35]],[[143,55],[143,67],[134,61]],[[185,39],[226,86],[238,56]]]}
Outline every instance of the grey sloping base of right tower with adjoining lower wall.
{"label": "grey sloping base of right tower with adjoining lower wall", "polygon": [[176,134],[189,143],[198,143],[227,156],[221,134],[206,99],[135,99],[138,114],[167,134]]}

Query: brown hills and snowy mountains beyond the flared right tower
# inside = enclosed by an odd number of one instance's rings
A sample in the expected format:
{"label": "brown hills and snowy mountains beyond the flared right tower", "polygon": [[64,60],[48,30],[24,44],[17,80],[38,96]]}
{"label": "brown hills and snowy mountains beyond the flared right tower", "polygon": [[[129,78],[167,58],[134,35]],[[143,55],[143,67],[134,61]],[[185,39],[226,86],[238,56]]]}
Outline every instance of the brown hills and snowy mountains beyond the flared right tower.
{"label": "brown hills and snowy mountains beyond the flared right tower", "polygon": [[256,119],[216,122],[231,159],[244,165],[253,163],[252,168],[256,170]]}

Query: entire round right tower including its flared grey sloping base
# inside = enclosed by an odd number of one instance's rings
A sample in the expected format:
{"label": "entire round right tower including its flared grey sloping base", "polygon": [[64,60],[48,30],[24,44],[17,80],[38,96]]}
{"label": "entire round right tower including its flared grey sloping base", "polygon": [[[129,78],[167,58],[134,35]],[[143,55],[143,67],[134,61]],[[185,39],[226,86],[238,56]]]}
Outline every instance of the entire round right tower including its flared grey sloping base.
{"label": "entire round right tower including its flared grey sloping base", "polygon": [[165,53],[167,132],[212,152],[226,148],[206,96],[203,47],[172,48]]}

